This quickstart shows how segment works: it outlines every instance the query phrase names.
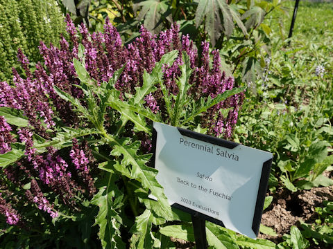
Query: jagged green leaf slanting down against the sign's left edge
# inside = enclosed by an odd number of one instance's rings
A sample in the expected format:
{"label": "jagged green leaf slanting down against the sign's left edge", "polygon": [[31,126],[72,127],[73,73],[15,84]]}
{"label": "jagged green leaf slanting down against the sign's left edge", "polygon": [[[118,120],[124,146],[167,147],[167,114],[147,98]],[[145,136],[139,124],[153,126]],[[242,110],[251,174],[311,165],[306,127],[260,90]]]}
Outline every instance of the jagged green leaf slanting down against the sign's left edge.
{"label": "jagged green leaf slanting down against the sign's left edge", "polygon": [[142,187],[151,190],[151,194],[157,198],[161,208],[164,208],[165,212],[172,217],[167,196],[164,195],[163,187],[156,180],[157,169],[146,166],[151,155],[137,155],[141,142],[130,143],[130,138],[115,138],[110,135],[109,140],[110,145],[114,146],[111,151],[112,156],[123,156],[120,165],[114,166],[115,169],[120,172],[125,171],[126,174],[130,171],[130,178],[141,182]]}

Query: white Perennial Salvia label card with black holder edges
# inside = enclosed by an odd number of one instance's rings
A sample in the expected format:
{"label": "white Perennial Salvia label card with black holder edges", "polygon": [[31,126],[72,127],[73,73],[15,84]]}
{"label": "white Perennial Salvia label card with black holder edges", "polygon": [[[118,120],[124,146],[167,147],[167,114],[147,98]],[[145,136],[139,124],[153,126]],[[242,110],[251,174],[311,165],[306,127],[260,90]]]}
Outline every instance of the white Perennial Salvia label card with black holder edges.
{"label": "white Perennial Salvia label card with black holder edges", "polygon": [[154,122],[157,181],[169,203],[257,237],[272,154]]}

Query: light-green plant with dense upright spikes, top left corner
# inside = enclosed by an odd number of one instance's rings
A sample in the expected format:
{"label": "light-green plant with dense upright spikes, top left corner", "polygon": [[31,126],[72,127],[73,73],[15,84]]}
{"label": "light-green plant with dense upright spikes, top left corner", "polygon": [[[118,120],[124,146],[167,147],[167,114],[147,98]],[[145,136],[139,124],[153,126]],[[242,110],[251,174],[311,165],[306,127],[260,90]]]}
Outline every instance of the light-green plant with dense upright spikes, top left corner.
{"label": "light-green plant with dense upright spikes, top left corner", "polygon": [[40,41],[59,44],[60,34],[65,31],[56,1],[0,0],[0,80],[9,80],[12,66],[19,66],[18,48],[37,62],[41,59]]}

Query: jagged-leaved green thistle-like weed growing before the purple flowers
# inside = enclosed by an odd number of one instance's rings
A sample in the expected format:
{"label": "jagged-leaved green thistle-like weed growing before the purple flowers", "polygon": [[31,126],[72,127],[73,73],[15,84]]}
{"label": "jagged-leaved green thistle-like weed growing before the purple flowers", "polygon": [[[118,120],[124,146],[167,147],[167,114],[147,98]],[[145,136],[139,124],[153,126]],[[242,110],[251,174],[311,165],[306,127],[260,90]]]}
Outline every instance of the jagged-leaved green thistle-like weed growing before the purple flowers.
{"label": "jagged-leaved green thistle-like weed growing before the purple flowers", "polygon": [[[103,143],[112,147],[110,152],[112,157],[110,158],[96,153],[104,160],[107,159],[99,166],[107,174],[106,178],[100,181],[99,193],[91,201],[93,205],[99,206],[99,214],[96,216],[95,224],[100,227],[99,238],[103,248],[124,248],[125,243],[121,239],[121,227],[123,227],[125,219],[121,207],[124,203],[130,205],[136,216],[135,223],[130,230],[133,233],[131,248],[158,248],[161,241],[151,231],[153,225],[162,225],[167,221],[180,219],[176,213],[171,211],[167,198],[163,194],[162,186],[155,179],[157,170],[147,166],[151,154],[141,154],[139,151],[140,142],[126,137],[124,133],[128,123],[134,124],[137,131],[150,133],[151,124],[147,124],[145,118],[162,122],[162,118],[156,116],[151,109],[144,107],[144,96],[157,90],[157,86],[161,88],[164,86],[162,84],[162,64],[172,64],[177,53],[178,51],[173,50],[164,55],[150,74],[145,72],[143,86],[136,89],[135,95],[128,96],[129,99],[125,97],[126,100],[120,100],[121,92],[115,89],[115,84],[123,68],[116,71],[109,82],[103,82],[98,87],[85,70],[84,62],[80,62],[78,59],[74,59],[74,66],[80,79],[78,87],[85,95],[84,100],[87,102],[87,107],[80,104],[80,100],[77,98],[55,86],[58,95],[69,101],[80,116],[96,127]],[[221,93],[214,100],[209,98],[206,101],[200,99],[197,102],[191,102],[186,97],[186,93],[191,87],[189,84],[191,68],[186,53],[183,54],[183,59],[184,64],[180,66],[182,74],[178,79],[178,95],[169,94],[167,89],[162,88],[164,100],[169,107],[171,107],[171,99],[174,99],[173,108],[167,108],[171,124],[188,127],[193,118],[207,111],[217,102],[244,91],[244,87],[232,89]],[[120,115],[120,122],[113,133],[109,133],[104,124],[105,116],[107,114],[110,116],[110,112]],[[119,183],[116,183],[119,178],[123,181],[123,189],[120,189]],[[149,193],[157,197],[157,202],[148,198]],[[139,211],[142,210],[142,205],[139,205],[137,201],[144,205],[143,211]]]}

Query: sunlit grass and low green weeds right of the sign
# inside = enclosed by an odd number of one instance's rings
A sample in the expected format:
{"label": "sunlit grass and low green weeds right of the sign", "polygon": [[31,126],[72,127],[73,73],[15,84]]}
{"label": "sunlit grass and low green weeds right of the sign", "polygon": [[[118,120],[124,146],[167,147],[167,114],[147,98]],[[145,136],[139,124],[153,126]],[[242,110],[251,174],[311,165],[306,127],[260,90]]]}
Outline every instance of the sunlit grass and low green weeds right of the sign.
{"label": "sunlit grass and low green weeds right of the sign", "polygon": [[[266,72],[270,73],[266,73],[267,81],[257,78],[255,95],[248,93],[235,134],[235,140],[273,153],[271,194],[281,187],[298,192],[333,184],[332,179],[323,176],[312,181],[316,172],[321,172],[318,167],[327,169],[333,163],[330,156],[333,145],[333,3],[300,1],[293,37],[289,40],[294,4],[295,1],[284,2],[289,16],[272,12],[265,20],[272,30],[269,35],[271,54],[266,55],[271,57],[271,64],[266,65]],[[316,67],[321,65],[325,67],[323,77],[316,75]],[[327,205],[332,203],[318,204]],[[327,246],[328,243],[330,245],[323,248],[332,246],[332,240],[327,239],[332,237],[332,212],[325,215],[317,224],[312,224],[313,230],[311,224],[299,226],[300,233],[309,241],[302,248],[317,248],[316,244]],[[287,240],[280,244],[281,248],[293,248],[288,238],[296,236],[296,228],[293,233],[284,237]]]}

